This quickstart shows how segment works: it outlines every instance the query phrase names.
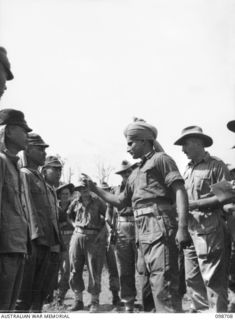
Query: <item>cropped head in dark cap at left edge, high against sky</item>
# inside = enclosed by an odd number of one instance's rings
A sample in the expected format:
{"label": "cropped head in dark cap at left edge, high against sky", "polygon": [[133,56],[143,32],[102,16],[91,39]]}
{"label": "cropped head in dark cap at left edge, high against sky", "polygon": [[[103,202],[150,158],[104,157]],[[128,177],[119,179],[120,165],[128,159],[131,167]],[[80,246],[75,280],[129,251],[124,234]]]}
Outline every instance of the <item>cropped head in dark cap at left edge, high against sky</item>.
{"label": "cropped head in dark cap at left edge, high against sky", "polygon": [[0,47],[0,99],[7,89],[6,82],[14,78],[11,72],[11,65],[7,58],[7,51]]}

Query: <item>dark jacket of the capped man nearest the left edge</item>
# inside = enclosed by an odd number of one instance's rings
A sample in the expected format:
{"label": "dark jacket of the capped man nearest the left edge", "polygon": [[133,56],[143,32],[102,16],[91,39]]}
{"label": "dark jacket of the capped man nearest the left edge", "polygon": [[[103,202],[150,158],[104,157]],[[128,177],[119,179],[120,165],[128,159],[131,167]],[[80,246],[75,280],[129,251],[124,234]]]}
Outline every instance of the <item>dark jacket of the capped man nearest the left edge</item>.
{"label": "dark jacket of the capped man nearest the left edge", "polygon": [[27,215],[22,204],[23,185],[18,157],[0,152],[0,253],[26,253]]}

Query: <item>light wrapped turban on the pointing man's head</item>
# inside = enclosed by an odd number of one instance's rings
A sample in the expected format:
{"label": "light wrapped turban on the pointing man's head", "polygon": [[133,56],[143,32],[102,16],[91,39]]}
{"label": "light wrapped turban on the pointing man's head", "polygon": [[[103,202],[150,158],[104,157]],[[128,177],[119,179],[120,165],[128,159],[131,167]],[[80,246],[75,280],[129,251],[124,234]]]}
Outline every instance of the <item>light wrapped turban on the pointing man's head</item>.
{"label": "light wrapped turban on the pointing man's head", "polygon": [[153,141],[156,152],[163,152],[163,148],[157,139],[157,129],[143,119],[134,118],[134,122],[130,123],[124,130],[125,137],[137,140]]}

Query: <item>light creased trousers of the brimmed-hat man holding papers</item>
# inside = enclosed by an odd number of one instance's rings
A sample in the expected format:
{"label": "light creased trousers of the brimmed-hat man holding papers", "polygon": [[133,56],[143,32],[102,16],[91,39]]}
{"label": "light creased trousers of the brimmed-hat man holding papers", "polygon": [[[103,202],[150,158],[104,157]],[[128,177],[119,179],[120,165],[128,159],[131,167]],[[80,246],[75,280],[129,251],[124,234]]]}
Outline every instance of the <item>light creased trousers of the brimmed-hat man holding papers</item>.
{"label": "light creased trousers of the brimmed-hat man holding papers", "polygon": [[198,312],[227,311],[228,266],[222,223],[208,233],[191,231],[193,243],[184,250],[186,284],[192,308]]}

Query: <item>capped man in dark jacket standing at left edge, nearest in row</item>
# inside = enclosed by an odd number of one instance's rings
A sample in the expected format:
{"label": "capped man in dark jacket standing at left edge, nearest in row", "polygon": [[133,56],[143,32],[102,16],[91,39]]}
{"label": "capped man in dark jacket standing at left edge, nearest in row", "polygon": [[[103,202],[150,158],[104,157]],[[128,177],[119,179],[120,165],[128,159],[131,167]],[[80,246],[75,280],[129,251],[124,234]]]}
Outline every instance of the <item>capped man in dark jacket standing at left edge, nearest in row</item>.
{"label": "capped man in dark jacket standing at left edge, nearest in row", "polygon": [[30,131],[21,111],[0,110],[0,312],[15,308],[27,254],[29,230],[17,153],[26,148]]}

